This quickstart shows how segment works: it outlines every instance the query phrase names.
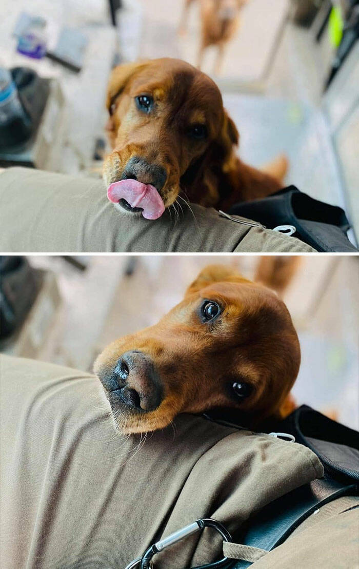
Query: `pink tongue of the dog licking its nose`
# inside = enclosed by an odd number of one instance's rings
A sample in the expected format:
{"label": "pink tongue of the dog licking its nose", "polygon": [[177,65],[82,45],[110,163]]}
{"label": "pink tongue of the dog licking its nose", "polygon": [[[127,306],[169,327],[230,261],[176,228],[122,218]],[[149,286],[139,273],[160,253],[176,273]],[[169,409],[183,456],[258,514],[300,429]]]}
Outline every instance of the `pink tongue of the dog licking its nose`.
{"label": "pink tongue of the dog licking its nose", "polygon": [[164,212],[164,203],[156,188],[138,180],[120,180],[108,187],[107,197],[113,203],[122,198],[133,208],[142,208],[143,217],[157,219]]}

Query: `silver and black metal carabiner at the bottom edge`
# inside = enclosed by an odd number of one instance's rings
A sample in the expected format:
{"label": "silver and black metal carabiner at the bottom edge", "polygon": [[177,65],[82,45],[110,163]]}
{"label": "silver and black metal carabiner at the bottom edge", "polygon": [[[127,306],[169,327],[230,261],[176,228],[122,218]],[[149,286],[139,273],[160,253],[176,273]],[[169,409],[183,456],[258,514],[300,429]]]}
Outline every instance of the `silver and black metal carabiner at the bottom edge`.
{"label": "silver and black metal carabiner at the bottom edge", "polygon": [[[171,535],[168,535],[166,538],[161,539],[160,541],[148,547],[148,549],[143,554],[140,563],[138,565],[139,569],[150,569],[151,567],[151,559],[160,551],[166,549],[166,547],[170,547],[177,543],[187,535],[191,535],[196,531],[203,530],[204,527],[213,527],[218,533],[221,535],[224,541],[232,542],[232,536],[230,535],[229,531],[220,523],[217,522],[216,519],[212,518],[200,518],[197,519],[195,522],[190,523],[188,526],[183,527],[182,529],[175,531]],[[213,563],[207,563],[205,565],[199,565],[197,567],[192,567],[191,569],[220,569],[220,567],[224,567],[224,565],[228,562],[228,557],[224,557],[218,561],[214,561]],[[126,569],[130,569],[130,567],[137,567],[136,565],[129,565]]]}

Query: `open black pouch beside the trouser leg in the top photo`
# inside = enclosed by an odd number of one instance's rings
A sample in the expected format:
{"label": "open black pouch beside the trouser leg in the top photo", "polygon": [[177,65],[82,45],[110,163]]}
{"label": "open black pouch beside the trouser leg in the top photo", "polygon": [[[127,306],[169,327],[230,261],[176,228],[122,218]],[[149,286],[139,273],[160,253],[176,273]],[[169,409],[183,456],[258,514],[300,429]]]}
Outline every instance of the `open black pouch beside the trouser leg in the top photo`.
{"label": "open black pouch beside the trouser leg in the top photo", "polygon": [[346,237],[350,224],[343,209],[315,200],[294,185],[261,200],[233,205],[229,213],[258,221],[268,229],[293,225],[294,237],[320,252],[358,251]]}

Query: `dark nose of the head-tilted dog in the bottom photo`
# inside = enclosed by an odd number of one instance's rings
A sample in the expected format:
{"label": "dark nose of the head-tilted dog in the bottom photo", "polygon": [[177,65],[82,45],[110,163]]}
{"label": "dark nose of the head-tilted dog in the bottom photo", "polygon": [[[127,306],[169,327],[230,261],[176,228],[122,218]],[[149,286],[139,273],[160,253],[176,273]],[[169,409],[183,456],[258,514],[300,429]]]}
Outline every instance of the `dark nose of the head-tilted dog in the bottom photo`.
{"label": "dark nose of the head-tilted dog in the bottom photo", "polygon": [[153,411],[162,401],[162,386],[151,358],[142,352],[126,352],[114,368],[119,396],[127,407]]}

